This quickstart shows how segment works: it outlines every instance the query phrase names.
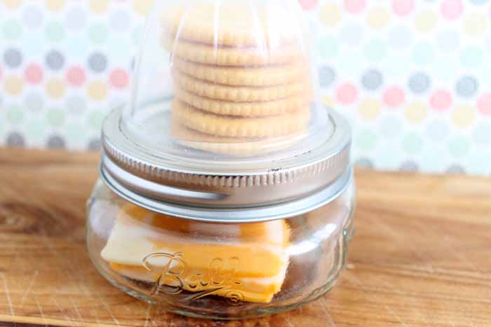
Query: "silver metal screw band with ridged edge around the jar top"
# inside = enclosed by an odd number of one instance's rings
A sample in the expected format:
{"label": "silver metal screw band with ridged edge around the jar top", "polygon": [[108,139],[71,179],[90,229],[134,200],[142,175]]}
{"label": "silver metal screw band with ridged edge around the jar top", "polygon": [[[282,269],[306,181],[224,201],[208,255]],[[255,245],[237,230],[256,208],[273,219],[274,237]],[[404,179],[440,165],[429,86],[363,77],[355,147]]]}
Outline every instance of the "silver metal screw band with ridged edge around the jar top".
{"label": "silver metal screw band with ridged edge around the jar top", "polygon": [[[112,111],[103,126],[100,176],[121,197],[153,211],[207,221],[270,220],[278,215],[257,218],[252,211],[288,207],[313,195],[329,199],[349,183],[351,129],[337,113],[330,113],[334,125],[332,137],[314,150],[295,158],[273,160],[269,167],[224,172],[152,156],[123,133],[122,109]],[[314,202],[319,201],[323,200]],[[201,218],[197,212],[187,215],[182,208],[190,211],[201,208],[200,214],[202,211],[227,213],[224,216],[228,218]],[[236,214],[230,214],[232,211]],[[247,214],[248,211],[251,212]],[[252,216],[247,218],[248,215]]]}

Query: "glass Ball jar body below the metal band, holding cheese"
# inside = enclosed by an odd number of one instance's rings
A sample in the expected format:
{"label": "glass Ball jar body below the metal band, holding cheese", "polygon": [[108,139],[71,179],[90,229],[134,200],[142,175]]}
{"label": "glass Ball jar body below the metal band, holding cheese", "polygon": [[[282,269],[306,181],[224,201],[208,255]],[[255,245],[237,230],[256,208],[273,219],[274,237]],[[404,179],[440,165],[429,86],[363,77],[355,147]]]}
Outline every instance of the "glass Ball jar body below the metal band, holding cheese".
{"label": "glass Ball jar body below the metal band, holding cheese", "polygon": [[355,187],[291,218],[208,223],[157,214],[97,182],[87,244],[114,286],[169,311],[245,319],[295,309],[334,286],[353,235]]}

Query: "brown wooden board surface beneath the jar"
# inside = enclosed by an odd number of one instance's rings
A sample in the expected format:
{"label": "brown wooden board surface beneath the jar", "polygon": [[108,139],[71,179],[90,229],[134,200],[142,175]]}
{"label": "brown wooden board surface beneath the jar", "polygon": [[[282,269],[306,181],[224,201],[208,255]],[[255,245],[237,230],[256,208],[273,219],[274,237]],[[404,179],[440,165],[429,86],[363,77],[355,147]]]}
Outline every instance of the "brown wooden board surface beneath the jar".
{"label": "brown wooden board surface beneath the jar", "polygon": [[293,312],[205,321],[121,293],[85,248],[97,154],[0,149],[0,326],[491,326],[491,179],[358,171],[334,290]]}

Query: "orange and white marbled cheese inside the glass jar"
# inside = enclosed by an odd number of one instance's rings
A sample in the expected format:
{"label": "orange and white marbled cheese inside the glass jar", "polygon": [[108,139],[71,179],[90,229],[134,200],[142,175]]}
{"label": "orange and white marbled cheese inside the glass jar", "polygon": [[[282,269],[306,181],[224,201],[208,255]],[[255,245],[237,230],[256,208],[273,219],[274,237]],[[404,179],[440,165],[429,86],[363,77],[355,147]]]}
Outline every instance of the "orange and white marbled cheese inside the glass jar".
{"label": "orange and white marbled cheese inside the glass jar", "polygon": [[288,267],[290,228],[265,223],[201,223],[127,204],[101,256],[115,272],[156,291],[271,302]]}

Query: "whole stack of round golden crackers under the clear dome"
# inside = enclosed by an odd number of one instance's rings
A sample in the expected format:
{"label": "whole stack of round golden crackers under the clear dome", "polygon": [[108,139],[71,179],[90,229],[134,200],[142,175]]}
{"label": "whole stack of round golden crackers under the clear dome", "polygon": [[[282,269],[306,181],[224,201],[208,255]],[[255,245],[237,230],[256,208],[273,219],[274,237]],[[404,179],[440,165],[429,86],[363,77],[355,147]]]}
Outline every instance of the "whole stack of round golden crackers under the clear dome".
{"label": "whole stack of round golden crackers under the clear dome", "polygon": [[311,80],[302,36],[264,8],[176,7],[164,18],[175,85],[173,135],[216,152],[258,152],[307,132]]}

